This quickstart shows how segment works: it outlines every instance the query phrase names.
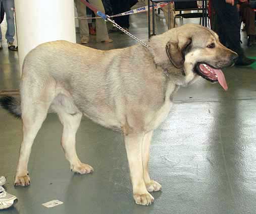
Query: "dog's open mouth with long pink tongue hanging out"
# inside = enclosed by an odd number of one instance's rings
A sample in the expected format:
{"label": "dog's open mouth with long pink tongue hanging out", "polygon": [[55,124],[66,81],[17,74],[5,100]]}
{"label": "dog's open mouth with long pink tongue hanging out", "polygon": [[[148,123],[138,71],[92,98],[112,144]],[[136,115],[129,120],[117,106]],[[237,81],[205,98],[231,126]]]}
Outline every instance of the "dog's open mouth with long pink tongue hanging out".
{"label": "dog's open mouth with long pink tongue hanging out", "polygon": [[211,82],[219,82],[222,88],[227,91],[228,85],[225,80],[225,76],[222,73],[222,70],[211,67],[209,64],[205,63],[197,63],[195,65],[195,71],[202,78],[211,81]]}

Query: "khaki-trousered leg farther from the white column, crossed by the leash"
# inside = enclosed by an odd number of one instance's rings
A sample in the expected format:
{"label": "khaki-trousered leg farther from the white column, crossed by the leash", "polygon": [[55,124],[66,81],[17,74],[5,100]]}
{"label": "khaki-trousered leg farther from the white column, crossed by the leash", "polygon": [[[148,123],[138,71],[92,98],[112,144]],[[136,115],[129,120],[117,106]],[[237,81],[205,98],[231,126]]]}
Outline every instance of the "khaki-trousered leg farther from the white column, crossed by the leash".
{"label": "khaki-trousered leg farther from the white column, crossed by the leash", "polygon": [[[105,9],[101,0],[89,0],[89,3],[99,11],[105,13]],[[109,38],[107,24],[103,19],[96,19],[96,41],[105,43],[113,42],[113,40]]]}

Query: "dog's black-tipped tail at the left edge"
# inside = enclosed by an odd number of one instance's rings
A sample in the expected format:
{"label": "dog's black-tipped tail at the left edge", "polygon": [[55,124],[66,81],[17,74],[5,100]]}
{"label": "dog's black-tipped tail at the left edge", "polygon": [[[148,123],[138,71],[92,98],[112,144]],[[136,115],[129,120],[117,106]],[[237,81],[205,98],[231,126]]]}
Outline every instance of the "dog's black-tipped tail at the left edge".
{"label": "dog's black-tipped tail at the left edge", "polygon": [[0,97],[0,106],[9,111],[16,118],[21,118],[21,101],[16,97]]}

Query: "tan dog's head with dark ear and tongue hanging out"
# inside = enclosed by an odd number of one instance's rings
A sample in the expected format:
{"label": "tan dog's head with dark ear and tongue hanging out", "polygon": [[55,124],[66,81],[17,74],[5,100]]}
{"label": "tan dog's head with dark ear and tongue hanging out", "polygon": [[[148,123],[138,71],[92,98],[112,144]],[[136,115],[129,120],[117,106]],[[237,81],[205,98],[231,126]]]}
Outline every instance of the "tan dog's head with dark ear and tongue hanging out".
{"label": "tan dog's head with dark ear and tongue hanging out", "polygon": [[211,82],[219,81],[225,90],[227,85],[221,68],[233,65],[238,57],[220,43],[215,32],[195,24],[186,24],[153,37],[150,47],[155,63],[165,69],[178,69],[185,84],[201,76]]}

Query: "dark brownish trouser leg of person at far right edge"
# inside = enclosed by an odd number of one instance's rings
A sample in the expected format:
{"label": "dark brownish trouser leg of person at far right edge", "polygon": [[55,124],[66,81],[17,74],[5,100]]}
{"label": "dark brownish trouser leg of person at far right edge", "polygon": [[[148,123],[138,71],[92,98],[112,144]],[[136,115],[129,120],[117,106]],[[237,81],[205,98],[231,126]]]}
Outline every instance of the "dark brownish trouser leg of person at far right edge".
{"label": "dark brownish trouser leg of person at far right edge", "polygon": [[240,6],[240,13],[248,36],[247,46],[250,47],[254,44],[255,38],[255,12],[248,3],[243,3]]}

